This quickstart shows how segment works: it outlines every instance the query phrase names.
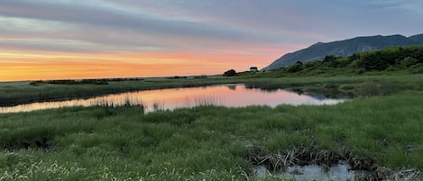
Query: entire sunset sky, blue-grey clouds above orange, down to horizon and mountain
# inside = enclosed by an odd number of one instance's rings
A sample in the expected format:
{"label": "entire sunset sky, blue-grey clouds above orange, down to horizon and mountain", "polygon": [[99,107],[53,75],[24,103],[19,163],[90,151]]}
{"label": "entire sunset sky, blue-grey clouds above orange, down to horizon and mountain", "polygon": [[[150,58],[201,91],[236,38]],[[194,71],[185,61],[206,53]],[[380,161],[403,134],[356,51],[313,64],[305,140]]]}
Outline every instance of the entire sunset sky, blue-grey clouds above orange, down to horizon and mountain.
{"label": "entire sunset sky, blue-grey clouds above orange, down to horizon and mountain", "polygon": [[241,72],[422,19],[421,0],[1,0],[0,81]]}

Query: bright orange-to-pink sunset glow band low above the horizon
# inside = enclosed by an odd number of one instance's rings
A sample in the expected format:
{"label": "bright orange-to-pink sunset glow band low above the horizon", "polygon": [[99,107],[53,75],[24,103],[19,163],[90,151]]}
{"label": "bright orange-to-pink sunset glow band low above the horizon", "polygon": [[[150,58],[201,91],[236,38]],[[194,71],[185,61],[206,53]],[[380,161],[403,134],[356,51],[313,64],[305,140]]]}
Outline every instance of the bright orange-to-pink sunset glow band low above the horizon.
{"label": "bright orange-to-pink sunset glow band low above the horizon", "polygon": [[169,77],[222,74],[263,68],[274,59],[243,52],[57,53],[0,52],[0,81],[106,77]]}

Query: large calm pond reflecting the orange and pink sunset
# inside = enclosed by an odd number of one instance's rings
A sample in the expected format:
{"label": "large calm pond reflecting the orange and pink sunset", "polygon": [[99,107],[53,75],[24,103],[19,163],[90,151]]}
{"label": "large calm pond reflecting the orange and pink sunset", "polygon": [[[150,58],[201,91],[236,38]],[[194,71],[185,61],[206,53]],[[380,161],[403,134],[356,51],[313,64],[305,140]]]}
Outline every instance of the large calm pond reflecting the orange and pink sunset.
{"label": "large calm pond reflecting the orange and pink sunset", "polygon": [[282,89],[269,92],[257,88],[246,88],[242,84],[235,84],[167,88],[105,95],[89,99],[20,104],[16,106],[0,107],[0,113],[19,113],[60,107],[94,105],[143,105],[144,112],[149,113],[156,110],[173,110],[180,107],[194,107],[210,104],[227,107],[242,107],[247,105],[269,105],[275,107],[279,104],[320,105],[338,104],[344,101],[343,99],[329,99],[321,95],[299,95]]}

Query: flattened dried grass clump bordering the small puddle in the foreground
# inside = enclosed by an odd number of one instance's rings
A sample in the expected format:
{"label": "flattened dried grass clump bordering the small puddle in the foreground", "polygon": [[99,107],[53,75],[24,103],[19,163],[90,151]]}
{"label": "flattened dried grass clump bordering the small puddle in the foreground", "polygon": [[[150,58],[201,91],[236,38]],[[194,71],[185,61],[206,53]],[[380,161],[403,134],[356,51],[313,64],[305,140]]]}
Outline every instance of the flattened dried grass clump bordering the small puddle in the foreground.
{"label": "flattened dried grass clump bordering the small puddle in the foreground", "polygon": [[352,170],[363,170],[372,176],[368,180],[418,180],[416,169],[406,169],[393,172],[388,167],[381,167],[372,158],[362,158],[351,151],[335,152],[306,146],[298,146],[290,150],[271,153],[266,149],[253,148],[248,154],[253,165],[264,166],[271,172],[283,172],[287,167],[317,164],[331,167],[340,162],[346,162]]}

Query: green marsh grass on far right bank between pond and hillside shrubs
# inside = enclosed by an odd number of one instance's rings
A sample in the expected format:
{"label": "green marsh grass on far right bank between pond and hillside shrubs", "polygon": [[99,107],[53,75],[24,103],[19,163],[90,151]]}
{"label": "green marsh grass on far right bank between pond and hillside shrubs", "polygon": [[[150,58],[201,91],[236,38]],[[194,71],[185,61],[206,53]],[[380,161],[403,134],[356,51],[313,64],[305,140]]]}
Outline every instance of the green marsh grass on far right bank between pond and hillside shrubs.
{"label": "green marsh grass on far right bank between pond and hillside shrubs", "polygon": [[330,98],[391,95],[402,90],[423,90],[421,75],[367,75],[339,77],[263,77],[245,79],[249,88],[274,91],[284,88],[298,94],[323,94]]}

